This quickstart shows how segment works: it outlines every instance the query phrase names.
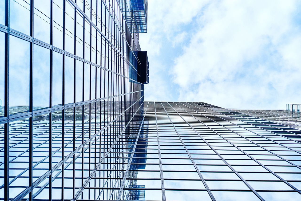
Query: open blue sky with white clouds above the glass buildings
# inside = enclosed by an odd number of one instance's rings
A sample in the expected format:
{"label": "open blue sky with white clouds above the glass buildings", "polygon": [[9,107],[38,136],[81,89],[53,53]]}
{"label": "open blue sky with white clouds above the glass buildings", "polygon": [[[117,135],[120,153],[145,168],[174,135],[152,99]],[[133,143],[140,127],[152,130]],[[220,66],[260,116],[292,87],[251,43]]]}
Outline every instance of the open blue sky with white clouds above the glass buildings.
{"label": "open blue sky with white clouds above the glass buildings", "polygon": [[149,0],[144,101],[301,103],[301,1]]}

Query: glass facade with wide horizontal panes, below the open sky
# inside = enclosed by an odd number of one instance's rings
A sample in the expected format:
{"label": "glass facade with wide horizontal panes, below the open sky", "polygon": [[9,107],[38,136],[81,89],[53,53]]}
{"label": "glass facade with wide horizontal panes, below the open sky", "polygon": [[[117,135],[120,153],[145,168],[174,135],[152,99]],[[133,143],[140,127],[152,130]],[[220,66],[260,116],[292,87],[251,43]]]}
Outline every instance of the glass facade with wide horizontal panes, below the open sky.
{"label": "glass facade with wide horizontal panes, below the open sky", "polygon": [[206,103],[144,102],[143,113],[79,200],[301,199],[301,143],[285,137],[299,130]]}

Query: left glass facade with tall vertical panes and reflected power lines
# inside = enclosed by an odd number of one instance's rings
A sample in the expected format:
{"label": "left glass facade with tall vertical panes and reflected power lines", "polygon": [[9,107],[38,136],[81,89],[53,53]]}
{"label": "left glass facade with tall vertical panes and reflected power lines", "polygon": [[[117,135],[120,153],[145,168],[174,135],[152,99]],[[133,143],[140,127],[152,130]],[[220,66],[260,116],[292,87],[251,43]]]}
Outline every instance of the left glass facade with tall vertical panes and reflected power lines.
{"label": "left glass facade with tall vertical panes and reflected power lines", "polygon": [[0,199],[81,199],[137,132],[133,26],[117,0],[0,1]]}

